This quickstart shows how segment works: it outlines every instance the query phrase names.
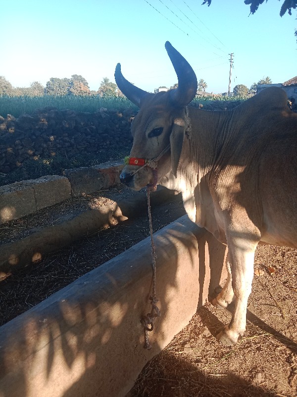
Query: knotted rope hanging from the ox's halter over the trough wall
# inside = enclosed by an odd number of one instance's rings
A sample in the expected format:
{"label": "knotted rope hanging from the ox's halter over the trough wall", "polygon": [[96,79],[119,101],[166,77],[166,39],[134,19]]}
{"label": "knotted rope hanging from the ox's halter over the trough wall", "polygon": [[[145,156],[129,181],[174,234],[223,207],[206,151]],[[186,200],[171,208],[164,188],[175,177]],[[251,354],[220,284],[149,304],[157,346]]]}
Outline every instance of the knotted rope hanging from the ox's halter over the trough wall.
{"label": "knotted rope hanging from the ox's halter over the trough wall", "polygon": [[[153,188],[152,188],[153,189]],[[157,307],[156,303],[158,299],[156,298],[156,254],[155,246],[152,237],[152,222],[151,222],[151,212],[150,212],[150,198],[149,193],[151,188],[147,188],[147,199],[148,199],[148,220],[149,220],[149,235],[150,235],[150,247],[151,247],[151,258],[152,258],[152,294],[149,297],[151,304],[151,311],[145,317],[141,319],[141,324],[145,329],[145,349],[151,349],[151,345],[148,340],[148,332],[153,330],[153,321],[155,318],[161,316],[161,312]]]}

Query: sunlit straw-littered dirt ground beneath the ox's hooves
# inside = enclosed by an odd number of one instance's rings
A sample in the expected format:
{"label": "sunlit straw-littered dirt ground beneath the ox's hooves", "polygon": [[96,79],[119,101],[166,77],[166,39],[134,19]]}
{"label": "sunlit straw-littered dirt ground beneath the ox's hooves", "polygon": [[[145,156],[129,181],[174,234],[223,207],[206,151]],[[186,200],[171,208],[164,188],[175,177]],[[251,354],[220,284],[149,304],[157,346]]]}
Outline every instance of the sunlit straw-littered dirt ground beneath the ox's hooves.
{"label": "sunlit straw-littered dirt ground beneath the ox's hooves", "polygon": [[127,397],[296,397],[297,250],[258,246],[247,331],[215,339],[233,307],[206,303],[143,369]]}

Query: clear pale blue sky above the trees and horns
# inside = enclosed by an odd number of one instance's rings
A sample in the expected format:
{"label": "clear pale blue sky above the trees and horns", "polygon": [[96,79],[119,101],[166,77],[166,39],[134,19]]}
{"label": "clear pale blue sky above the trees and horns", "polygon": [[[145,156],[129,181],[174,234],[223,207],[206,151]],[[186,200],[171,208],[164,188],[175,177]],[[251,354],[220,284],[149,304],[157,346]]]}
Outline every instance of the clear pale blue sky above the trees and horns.
{"label": "clear pale blue sky above the trees and horns", "polygon": [[[149,5],[150,3],[151,5]],[[268,0],[254,15],[244,0],[6,0],[1,3],[0,75],[13,86],[43,85],[50,77],[81,74],[98,90],[126,78],[153,92],[177,82],[164,44],[171,44],[203,78],[206,91],[228,90],[269,76],[297,75],[296,10],[279,16],[283,0]],[[159,12],[157,12],[155,9]],[[161,14],[160,14],[161,13]],[[168,18],[168,19],[166,19]]]}

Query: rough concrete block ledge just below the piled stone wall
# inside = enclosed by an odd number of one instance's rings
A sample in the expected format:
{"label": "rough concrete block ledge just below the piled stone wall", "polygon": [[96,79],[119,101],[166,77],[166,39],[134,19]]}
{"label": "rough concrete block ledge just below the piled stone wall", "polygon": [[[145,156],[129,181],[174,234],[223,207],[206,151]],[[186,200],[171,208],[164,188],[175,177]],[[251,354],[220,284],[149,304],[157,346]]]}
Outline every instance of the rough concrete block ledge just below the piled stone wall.
{"label": "rough concrete block ledge just below the piled stone wall", "polygon": [[0,224],[30,215],[72,197],[84,196],[120,183],[121,163],[65,170],[65,176],[48,175],[0,187]]}

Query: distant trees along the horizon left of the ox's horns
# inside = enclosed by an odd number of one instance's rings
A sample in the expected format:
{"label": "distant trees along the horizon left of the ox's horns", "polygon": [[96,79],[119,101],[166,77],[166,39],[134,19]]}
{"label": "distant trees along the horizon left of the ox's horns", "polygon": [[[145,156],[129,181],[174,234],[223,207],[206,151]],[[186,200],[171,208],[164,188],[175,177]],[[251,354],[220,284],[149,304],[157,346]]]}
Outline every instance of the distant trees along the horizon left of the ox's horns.
{"label": "distant trees along the horizon left of the ox's horns", "polygon": [[0,76],[0,95],[9,96],[43,96],[43,95],[99,95],[112,97],[122,95],[115,83],[104,77],[97,91],[90,90],[87,80],[78,74],[70,78],[51,77],[44,87],[39,81],[34,81],[30,87],[13,87],[4,76]]}

